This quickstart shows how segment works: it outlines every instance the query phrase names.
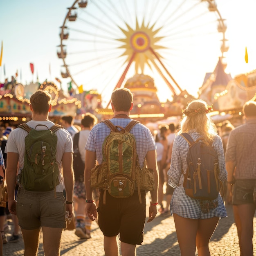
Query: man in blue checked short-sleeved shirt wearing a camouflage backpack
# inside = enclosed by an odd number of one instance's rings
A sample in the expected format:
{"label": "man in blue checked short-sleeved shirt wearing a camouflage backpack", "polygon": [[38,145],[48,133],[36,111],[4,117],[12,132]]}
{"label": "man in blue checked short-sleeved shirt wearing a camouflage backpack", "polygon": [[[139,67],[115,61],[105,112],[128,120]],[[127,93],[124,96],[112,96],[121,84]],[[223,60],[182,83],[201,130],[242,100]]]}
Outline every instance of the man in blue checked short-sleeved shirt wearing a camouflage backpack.
{"label": "man in blue checked short-sleeved shirt wearing a camouflage backpack", "polygon": [[[122,152],[124,148],[130,148],[130,152],[133,151],[134,148],[130,147],[128,144],[125,146],[123,143],[124,137],[131,141],[132,136],[130,134],[132,134],[135,137],[135,148],[137,150],[139,166],[141,167],[139,168],[139,172],[143,171],[145,159],[147,168],[152,169],[155,187],[150,190],[151,202],[147,221],[150,222],[157,214],[158,169],[156,162],[156,146],[150,130],[138,122],[135,122],[131,129],[124,131],[124,128],[126,128],[129,123],[132,123],[132,119],[129,117],[130,110],[133,108],[133,96],[130,90],[126,88],[115,90],[112,93],[111,100],[114,117],[110,119],[110,122],[115,126],[115,130],[113,131],[113,127],[110,128],[112,125],[109,124],[109,122],[101,122],[95,125],[90,132],[85,146],[86,211],[91,220],[97,218],[97,211],[99,213],[98,223],[104,235],[104,250],[106,255],[119,255],[116,238],[120,233],[122,255],[132,256],[135,255],[136,245],[141,245],[143,241],[143,229],[146,219],[146,191],[142,185],[139,189],[138,185],[139,181],[143,180],[144,177],[141,177],[140,180],[137,180],[137,184],[134,184],[133,176],[130,178],[128,177],[129,175],[126,175],[125,177],[124,174],[125,172],[129,173],[124,162],[128,162],[129,165],[131,161],[134,162],[136,166],[136,156],[131,155],[130,158],[128,158],[127,155],[122,155],[120,152]],[[110,153],[115,151],[115,155],[108,155],[109,152],[103,154],[104,150],[108,151],[103,147],[103,144],[105,147],[107,147],[106,144],[108,144],[108,142],[105,141],[106,137],[110,134],[118,134],[119,130],[123,130],[123,132],[120,132],[120,141],[117,141],[116,148],[110,148]],[[116,155],[119,156],[120,161],[114,161]],[[113,159],[113,161],[111,161],[111,159]],[[91,187],[92,183],[94,187],[97,187],[98,183],[93,179],[91,180],[91,178],[95,176],[94,166],[96,160],[101,167],[104,164],[107,168],[112,166],[112,169],[108,170],[108,172],[114,169],[117,172],[119,171],[117,178],[115,178],[116,176],[112,176],[112,174],[108,175],[110,178],[108,181],[106,180],[108,185],[100,189],[98,209],[96,209],[96,204],[94,204],[92,198],[93,189]],[[119,164],[115,164],[114,162],[118,162]],[[95,170],[99,171],[99,177],[102,177],[102,172],[104,171],[101,167],[99,167],[100,171],[98,169]],[[122,168],[124,168],[124,173],[121,173]],[[132,168],[131,171],[134,173],[135,170]],[[136,173],[132,175],[136,175]]]}

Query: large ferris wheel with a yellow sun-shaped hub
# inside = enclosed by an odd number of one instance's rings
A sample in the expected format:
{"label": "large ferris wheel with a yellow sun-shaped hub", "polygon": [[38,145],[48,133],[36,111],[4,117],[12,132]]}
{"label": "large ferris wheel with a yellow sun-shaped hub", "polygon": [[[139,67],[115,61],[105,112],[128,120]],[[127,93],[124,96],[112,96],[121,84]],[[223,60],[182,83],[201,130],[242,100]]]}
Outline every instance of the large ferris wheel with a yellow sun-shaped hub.
{"label": "large ferris wheel with a yellow sun-shaped hub", "polygon": [[61,75],[107,102],[127,79],[145,74],[168,98],[199,88],[229,49],[226,29],[214,0],[75,0],[60,28]]}

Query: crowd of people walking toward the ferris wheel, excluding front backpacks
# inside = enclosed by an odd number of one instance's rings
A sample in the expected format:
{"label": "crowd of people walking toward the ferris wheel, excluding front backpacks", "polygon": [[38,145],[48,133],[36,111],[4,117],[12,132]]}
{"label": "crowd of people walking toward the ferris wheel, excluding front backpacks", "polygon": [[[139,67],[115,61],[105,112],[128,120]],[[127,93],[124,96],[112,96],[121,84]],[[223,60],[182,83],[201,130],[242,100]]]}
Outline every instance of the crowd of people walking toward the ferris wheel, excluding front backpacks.
{"label": "crowd of people walking toward the ferris wheel, excluding front backpacks", "polygon": [[[27,125],[38,130],[51,128],[50,95],[36,91],[30,99],[32,120]],[[115,127],[130,123],[133,96],[121,88],[112,93],[111,107]],[[146,221],[146,195],[150,197],[147,222],[153,221],[157,212],[173,216],[182,256],[209,256],[209,241],[221,218],[227,217],[225,204],[232,204],[238,231],[240,255],[253,256],[253,220],[256,210],[256,102],[248,101],[243,107],[245,123],[234,127],[229,121],[220,129],[213,124],[211,108],[198,99],[184,110],[180,124],[161,124],[148,128],[135,124],[130,133],[135,137],[138,162],[153,172],[155,189],[134,191],[128,198],[115,198],[108,191],[90,186],[91,170],[103,163],[102,148],[110,128],[87,113],[80,124],[74,117],[64,116],[63,129],[58,137],[56,162],[58,184],[52,191],[27,191],[17,182],[24,165],[25,137],[20,128],[6,127],[2,131],[0,166],[3,166],[2,186],[7,187],[7,207],[0,207],[0,256],[3,244],[24,240],[24,255],[36,256],[40,230],[43,232],[46,256],[59,256],[61,234],[67,228],[66,219],[74,222],[74,233],[79,239],[93,239],[91,224],[97,221],[104,235],[106,256],[118,256],[117,235],[121,241],[121,254],[135,256],[136,245],[143,243]],[[185,193],[184,171],[189,143],[182,136],[188,133],[193,140],[211,144],[218,156],[218,179],[223,191],[214,200],[200,200]],[[73,156],[75,155],[75,157]],[[79,165],[76,165],[77,157]],[[74,161],[74,162],[73,162]],[[82,170],[82,171],[81,171]],[[84,171],[83,171],[84,170]],[[0,179],[1,181],[1,179]],[[207,205],[207,211],[202,210]],[[49,207],[51,210],[49,211]],[[51,212],[49,214],[49,212]],[[67,216],[65,217],[65,214]],[[4,229],[8,219],[13,223],[13,234],[7,240]]]}

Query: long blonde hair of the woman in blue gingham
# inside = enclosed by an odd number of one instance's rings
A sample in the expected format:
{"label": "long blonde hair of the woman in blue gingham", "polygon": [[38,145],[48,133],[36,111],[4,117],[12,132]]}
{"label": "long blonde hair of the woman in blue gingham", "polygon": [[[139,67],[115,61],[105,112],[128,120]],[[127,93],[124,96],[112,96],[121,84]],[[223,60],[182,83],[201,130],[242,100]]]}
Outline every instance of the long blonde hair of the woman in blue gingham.
{"label": "long blonde hair of the woman in blue gingham", "polygon": [[189,132],[195,130],[199,132],[205,141],[213,141],[213,137],[217,134],[216,126],[211,121],[211,118],[207,113],[211,107],[207,106],[207,103],[201,99],[191,101],[185,110],[183,110],[183,119],[180,123],[180,131]]}

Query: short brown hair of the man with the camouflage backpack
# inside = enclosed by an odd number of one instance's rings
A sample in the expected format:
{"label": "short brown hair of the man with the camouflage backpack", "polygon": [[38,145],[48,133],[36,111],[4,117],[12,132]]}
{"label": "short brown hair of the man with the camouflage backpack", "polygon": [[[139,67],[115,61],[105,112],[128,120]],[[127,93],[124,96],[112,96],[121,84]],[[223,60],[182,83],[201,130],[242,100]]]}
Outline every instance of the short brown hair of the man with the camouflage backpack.
{"label": "short brown hair of the man with the camouflage backpack", "polygon": [[111,101],[115,111],[129,111],[133,101],[133,95],[127,88],[118,88],[112,92]]}

